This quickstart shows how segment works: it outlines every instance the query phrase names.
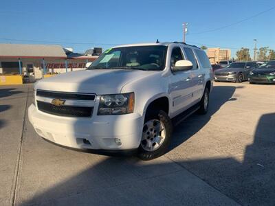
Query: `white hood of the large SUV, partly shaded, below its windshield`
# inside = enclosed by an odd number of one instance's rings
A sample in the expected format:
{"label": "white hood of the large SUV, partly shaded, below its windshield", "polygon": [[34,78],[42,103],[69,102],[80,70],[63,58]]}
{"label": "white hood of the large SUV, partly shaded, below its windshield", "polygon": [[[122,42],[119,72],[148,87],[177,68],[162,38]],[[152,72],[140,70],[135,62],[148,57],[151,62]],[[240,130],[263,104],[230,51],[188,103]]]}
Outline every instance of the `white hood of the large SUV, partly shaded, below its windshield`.
{"label": "white hood of the large SUV, partly shaded, below its windshield", "polygon": [[34,89],[78,93],[120,93],[124,85],[156,73],[133,69],[91,69],[70,71],[36,82]]}

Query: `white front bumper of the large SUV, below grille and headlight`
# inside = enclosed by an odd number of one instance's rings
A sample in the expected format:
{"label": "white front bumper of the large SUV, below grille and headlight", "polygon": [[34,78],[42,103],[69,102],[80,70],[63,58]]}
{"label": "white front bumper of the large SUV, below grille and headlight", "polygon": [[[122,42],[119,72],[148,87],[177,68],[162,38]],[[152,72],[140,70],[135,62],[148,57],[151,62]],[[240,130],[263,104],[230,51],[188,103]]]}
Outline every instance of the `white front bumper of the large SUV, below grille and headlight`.
{"label": "white front bumper of the large SUV, below grille and headlight", "polygon": [[144,118],[136,113],[85,117],[60,117],[39,111],[34,104],[28,117],[36,133],[61,146],[91,150],[138,148]]}

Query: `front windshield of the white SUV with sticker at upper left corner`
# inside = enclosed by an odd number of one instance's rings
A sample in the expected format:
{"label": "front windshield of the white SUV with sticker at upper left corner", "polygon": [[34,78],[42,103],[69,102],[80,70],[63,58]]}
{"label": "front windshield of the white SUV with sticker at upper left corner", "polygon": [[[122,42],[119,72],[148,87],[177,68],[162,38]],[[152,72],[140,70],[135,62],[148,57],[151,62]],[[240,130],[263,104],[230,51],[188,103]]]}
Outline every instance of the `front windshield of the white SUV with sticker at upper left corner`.
{"label": "front windshield of the white SUV with sticker at upper left corner", "polygon": [[163,70],[166,46],[135,46],[107,49],[87,69]]}

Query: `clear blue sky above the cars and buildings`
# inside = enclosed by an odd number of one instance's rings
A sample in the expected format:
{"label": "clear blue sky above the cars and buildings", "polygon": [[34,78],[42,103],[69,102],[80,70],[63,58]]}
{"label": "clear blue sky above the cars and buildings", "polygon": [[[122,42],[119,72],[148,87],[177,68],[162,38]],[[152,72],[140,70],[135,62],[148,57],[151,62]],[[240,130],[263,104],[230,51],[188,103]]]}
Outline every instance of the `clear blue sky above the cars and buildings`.
{"label": "clear blue sky above the cars and buildings", "polygon": [[85,52],[127,43],[182,41],[275,49],[274,0],[1,0],[0,43],[58,44]]}

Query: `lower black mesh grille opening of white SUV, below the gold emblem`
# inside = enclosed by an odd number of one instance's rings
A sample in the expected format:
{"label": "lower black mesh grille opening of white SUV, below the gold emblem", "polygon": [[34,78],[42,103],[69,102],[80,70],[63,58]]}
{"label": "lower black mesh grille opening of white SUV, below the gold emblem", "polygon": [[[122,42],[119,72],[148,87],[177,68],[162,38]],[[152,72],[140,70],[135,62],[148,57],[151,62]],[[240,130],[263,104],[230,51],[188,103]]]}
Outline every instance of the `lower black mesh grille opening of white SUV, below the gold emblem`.
{"label": "lower black mesh grille opening of white SUV, below the gold emblem", "polygon": [[65,116],[65,117],[91,117],[94,107],[84,106],[55,106],[48,102],[37,101],[37,106],[40,111],[52,115]]}

